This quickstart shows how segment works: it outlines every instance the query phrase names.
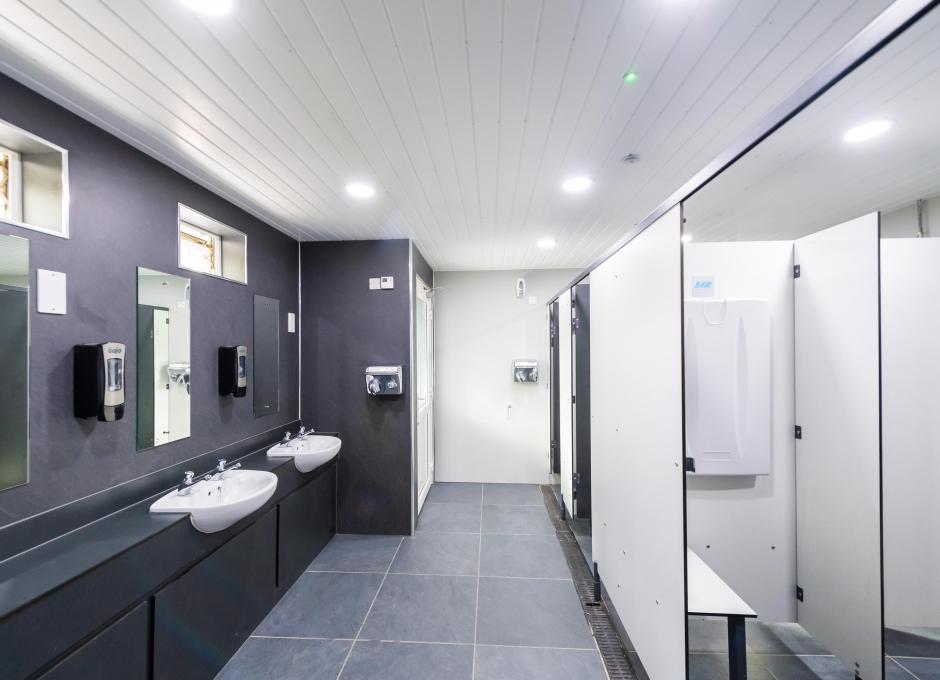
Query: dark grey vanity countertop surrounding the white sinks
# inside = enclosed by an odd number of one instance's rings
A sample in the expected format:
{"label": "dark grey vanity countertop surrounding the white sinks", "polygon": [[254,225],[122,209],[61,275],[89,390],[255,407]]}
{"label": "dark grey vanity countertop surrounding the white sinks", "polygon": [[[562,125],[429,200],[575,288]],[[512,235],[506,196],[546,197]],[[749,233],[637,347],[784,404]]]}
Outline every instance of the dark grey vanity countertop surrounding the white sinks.
{"label": "dark grey vanity countertop surrounding the white sinks", "polygon": [[[261,450],[239,462],[245,469],[267,470],[278,475],[278,488],[274,496],[258,514],[303,483],[290,458],[268,458],[265,450]],[[186,531],[198,534],[199,537],[207,537],[206,540],[197,538],[195,542],[211,550],[218,540],[212,540],[211,537],[230,535],[241,524],[239,522],[235,527],[217,534],[199,534],[191,526],[187,514],[151,513],[149,510],[153,501],[169,490],[164,489],[134,505],[0,562],[0,621],[177,525],[182,525]],[[198,553],[202,551],[195,552],[198,559]]]}

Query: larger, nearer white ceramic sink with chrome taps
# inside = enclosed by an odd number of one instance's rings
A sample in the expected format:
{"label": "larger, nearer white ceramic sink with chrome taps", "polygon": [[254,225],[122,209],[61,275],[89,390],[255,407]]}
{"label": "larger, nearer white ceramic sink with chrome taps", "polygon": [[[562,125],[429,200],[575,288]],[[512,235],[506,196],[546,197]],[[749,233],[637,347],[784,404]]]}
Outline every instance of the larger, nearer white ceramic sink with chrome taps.
{"label": "larger, nearer white ceramic sink with chrome taps", "polygon": [[228,470],[217,479],[196,482],[189,493],[171,491],[150,512],[186,512],[199,531],[211,534],[232,526],[264,505],[277,488],[277,475],[263,470]]}

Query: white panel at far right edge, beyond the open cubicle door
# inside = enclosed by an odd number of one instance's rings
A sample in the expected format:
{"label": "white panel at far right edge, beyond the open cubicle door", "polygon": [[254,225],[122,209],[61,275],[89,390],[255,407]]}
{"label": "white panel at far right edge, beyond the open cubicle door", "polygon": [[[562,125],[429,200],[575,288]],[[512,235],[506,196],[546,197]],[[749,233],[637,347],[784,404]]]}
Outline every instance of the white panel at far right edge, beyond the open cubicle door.
{"label": "white panel at far right edge, beyond the open cubicle door", "polygon": [[884,577],[890,627],[940,627],[938,299],[940,239],[882,240]]}

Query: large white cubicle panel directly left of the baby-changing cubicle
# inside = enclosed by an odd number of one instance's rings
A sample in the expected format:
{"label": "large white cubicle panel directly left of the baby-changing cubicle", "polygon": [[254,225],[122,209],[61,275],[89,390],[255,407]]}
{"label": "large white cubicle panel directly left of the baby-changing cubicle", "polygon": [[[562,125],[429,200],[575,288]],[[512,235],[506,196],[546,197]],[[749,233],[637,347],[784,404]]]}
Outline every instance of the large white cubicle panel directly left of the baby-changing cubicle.
{"label": "large white cubicle panel directly left of the baby-changing cubicle", "polygon": [[686,677],[680,215],[591,273],[594,560],[650,680]]}

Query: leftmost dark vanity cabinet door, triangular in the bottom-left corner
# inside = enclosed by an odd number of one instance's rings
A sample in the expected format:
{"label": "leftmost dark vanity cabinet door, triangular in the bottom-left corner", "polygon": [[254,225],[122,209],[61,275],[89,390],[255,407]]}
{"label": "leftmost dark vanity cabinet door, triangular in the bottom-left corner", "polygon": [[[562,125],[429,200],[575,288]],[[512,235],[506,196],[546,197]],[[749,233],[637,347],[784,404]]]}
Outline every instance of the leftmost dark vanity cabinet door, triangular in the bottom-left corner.
{"label": "leftmost dark vanity cabinet door, triangular in the bottom-left corner", "polygon": [[150,602],[141,602],[42,675],[43,680],[147,680]]}

